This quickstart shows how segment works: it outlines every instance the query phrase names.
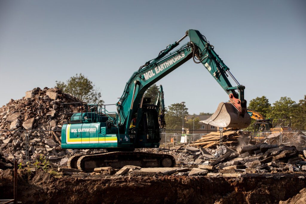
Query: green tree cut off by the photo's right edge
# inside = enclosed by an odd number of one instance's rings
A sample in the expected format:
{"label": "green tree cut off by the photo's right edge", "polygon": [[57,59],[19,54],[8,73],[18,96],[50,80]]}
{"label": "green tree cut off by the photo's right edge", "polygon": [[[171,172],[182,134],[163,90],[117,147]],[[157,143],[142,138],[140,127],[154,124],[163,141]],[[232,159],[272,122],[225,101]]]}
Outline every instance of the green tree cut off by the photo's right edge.
{"label": "green tree cut off by the photo's right edge", "polygon": [[293,110],[292,128],[306,130],[306,95],[301,99]]}

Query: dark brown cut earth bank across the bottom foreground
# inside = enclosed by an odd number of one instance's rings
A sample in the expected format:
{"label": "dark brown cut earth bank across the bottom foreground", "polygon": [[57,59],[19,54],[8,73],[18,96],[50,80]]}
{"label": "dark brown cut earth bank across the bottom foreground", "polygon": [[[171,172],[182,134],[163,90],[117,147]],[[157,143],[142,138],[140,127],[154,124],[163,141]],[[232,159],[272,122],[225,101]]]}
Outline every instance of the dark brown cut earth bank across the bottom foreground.
{"label": "dark brown cut earth bank across the bottom foreground", "polygon": [[[53,176],[43,170],[19,172],[23,203],[278,203],[306,187],[306,175]],[[0,172],[0,199],[13,198],[13,170]]]}

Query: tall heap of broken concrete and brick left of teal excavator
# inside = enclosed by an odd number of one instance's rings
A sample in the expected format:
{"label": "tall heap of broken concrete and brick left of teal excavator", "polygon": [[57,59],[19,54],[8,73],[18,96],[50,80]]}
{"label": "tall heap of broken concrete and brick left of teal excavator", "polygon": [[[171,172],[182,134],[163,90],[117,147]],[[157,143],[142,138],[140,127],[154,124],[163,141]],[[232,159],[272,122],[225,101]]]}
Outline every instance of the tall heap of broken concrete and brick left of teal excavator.
{"label": "tall heap of broken concrete and brick left of teal excavator", "polygon": [[[6,106],[2,106],[0,130],[4,131],[0,132],[0,151],[4,157],[17,159],[18,163],[24,162],[26,138],[23,130],[60,130],[65,120],[65,116],[59,114],[60,104],[68,102],[80,101],[58,88],[37,87],[27,91],[22,99],[11,99]],[[35,160],[43,154],[46,159],[54,161],[76,153],[76,150],[62,150],[60,139],[54,131],[31,131],[28,139],[30,159]]]}

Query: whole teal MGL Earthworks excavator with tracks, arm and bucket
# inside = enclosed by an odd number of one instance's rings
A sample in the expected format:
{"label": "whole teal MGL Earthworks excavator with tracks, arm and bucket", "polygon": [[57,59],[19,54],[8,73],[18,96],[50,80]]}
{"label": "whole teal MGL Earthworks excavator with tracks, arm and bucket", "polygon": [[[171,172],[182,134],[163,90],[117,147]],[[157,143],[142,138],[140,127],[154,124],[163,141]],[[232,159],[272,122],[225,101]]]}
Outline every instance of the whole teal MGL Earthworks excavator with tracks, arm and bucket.
{"label": "whole teal MGL Earthworks excavator with tracks, arm and bucket", "polygon": [[[190,41],[174,50],[187,36]],[[161,100],[158,100],[157,104],[151,103],[151,98],[144,97],[145,91],[190,59],[202,64],[230,99],[230,103],[221,102],[212,117],[204,122],[224,128],[248,127],[251,118],[247,113],[247,102],[244,99],[245,87],[238,83],[206,37],[197,30],[188,30],[181,39],[168,45],[157,57],[147,61],[132,74],[116,103],[116,112],[108,112],[105,105],[103,107],[83,103],[78,105],[76,112],[69,112],[69,107],[73,104],[62,104],[62,114],[67,117],[62,126],[62,148],[107,151],[75,155],[69,159],[68,167],[93,171],[94,168],[108,166],[174,166],[175,159],[171,155],[134,150],[158,148],[161,139],[159,120],[163,119],[159,119],[158,113],[158,103]],[[237,86],[231,85],[229,76]]]}

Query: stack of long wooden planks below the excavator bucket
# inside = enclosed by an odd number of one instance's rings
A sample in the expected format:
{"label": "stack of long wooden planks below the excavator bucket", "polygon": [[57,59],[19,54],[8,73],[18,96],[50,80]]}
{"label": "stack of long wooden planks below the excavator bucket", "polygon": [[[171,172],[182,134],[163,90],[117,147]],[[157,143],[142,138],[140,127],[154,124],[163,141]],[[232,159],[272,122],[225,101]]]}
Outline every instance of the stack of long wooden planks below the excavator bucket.
{"label": "stack of long wooden planks below the excavator bucket", "polygon": [[[222,134],[222,144],[227,146],[233,146],[238,144],[239,131],[227,131]],[[203,148],[213,148],[220,144],[220,132],[211,132],[207,135],[203,135],[201,139],[196,140],[190,146],[198,146]]]}

